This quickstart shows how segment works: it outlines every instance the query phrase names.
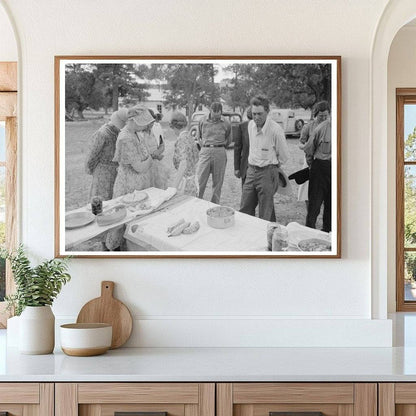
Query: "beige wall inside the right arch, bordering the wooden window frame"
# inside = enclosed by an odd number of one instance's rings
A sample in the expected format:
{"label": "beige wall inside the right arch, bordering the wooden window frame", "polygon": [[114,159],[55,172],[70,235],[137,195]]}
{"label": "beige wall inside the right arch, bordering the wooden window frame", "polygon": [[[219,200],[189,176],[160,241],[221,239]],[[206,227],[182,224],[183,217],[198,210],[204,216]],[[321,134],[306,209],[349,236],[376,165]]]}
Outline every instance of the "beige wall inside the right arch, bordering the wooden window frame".
{"label": "beige wall inside the right arch, bordering the wooden window frame", "polygon": [[416,25],[404,26],[391,44],[388,60],[388,307],[396,303],[396,88],[416,88]]}

